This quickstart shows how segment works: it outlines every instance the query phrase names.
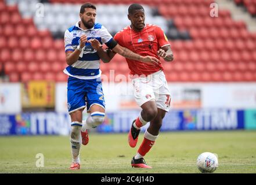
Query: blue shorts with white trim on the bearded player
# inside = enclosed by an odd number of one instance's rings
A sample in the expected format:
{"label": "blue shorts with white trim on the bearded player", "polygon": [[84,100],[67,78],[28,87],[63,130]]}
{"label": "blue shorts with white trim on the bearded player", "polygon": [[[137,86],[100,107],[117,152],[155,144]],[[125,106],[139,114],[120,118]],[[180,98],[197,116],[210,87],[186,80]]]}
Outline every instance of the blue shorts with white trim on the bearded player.
{"label": "blue shorts with white trim on the bearded player", "polygon": [[71,114],[85,107],[88,111],[94,104],[105,109],[101,79],[82,80],[69,76],[67,82],[68,113]]}

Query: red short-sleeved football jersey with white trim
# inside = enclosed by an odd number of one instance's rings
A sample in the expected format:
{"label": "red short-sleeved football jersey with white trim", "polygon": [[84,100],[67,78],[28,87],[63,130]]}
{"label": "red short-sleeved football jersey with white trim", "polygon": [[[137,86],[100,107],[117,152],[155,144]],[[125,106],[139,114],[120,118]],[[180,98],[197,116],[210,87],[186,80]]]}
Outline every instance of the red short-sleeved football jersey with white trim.
{"label": "red short-sleeved football jersey with white trim", "polygon": [[[152,56],[159,60],[160,57],[157,56],[157,51],[162,46],[170,45],[163,29],[153,24],[146,24],[140,32],[135,32],[131,27],[125,27],[120,32],[117,32],[114,39],[120,46],[127,47],[140,56]],[[131,75],[149,75],[160,69],[163,70],[161,62],[156,66],[128,58],[125,59],[131,70]]]}

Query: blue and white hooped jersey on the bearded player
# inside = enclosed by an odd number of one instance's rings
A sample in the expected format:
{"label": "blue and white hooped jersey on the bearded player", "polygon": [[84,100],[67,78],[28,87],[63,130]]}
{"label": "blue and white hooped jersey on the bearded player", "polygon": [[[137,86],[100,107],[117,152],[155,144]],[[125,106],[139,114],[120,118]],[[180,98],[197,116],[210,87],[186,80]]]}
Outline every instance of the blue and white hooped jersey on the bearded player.
{"label": "blue and white hooped jersey on the bearded player", "polygon": [[[95,23],[91,29],[82,29],[79,27],[79,21],[66,30],[64,35],[65,52],[74,51],[80,44],[80,37],[86,35],[87,39],[97,39],[99,42],[110,43],[113,38],[102,24]],[[101,71],[100,57],[96,50],[94,50],[90,43],[85,43],[85,47],[74,64],[67,66],[64,73],[78,79],[96,79],[100,77]]]}

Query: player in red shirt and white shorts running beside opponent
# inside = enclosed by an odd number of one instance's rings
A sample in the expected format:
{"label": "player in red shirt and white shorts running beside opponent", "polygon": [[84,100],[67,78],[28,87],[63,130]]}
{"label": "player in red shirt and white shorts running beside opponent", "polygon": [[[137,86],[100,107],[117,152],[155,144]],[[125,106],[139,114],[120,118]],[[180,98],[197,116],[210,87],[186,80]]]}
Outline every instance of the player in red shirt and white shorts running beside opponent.
{"label": "player in red shirt and white shorts running beside opponent", "polygon": [[[114,36],[114,40],[122,47],[127,47],[141,56],[152,56],[165,61],[174,59],[170,43],[163,29],[152,24],[145,24],[145,11],[143,6],[132,4],[128,9],[128,18],[131,25],[122,29]],[[99,42],[90,40],[92,47],[98,51],[100,57],[109,61],[114,57],[111,50],[103,50]],[[136,103],[142,108],[138,118],[133,121],[128,134],[128,142],[135,147],[138,142],[140,128],[150,122],[143,142],[138,152],[132,158],[131,165],[135,168],[152,168],[147,165],[144,156],[154,145],[158,137],[165,113],[170,109],[171,95],[163,72],[161,62],[157,65],[145,64],[126,58],[131,70],[132,84]]]}

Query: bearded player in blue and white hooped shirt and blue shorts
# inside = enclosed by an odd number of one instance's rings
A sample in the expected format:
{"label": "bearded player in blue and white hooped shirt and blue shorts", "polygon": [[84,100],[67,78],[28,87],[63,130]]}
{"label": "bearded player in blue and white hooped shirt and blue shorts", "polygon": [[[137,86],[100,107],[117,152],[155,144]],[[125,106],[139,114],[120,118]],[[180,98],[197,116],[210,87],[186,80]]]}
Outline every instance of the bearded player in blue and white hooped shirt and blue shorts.
{"label": "bearded player in blue and white hooped shirt and blue shorts", "polygon": [[[126,58],[142,61],[154,65],[159,62],[157,58],[139,56],[131,50],[118,45],[106,28],[95,23],[96,7],[85,3],[80,9],[81,21],[68,28],[64,35],[67,68],[64,69],[68,77],[67,83],[67,108],[71,117],[71,152],[73,162],[70,169],[80,169],[81,142],[86,145],[89,141],[89,128],[102,124],[105,116],[105,102],[100,79],[100,58],[109,62],[104,55],[98,54],[93,49],[90,40],[97,39],[106,44],[115,53]],[[99,48],[101,49],[101,48]],[[86,121],[82,121],[82,110],[86,107],[91,113]]]}

